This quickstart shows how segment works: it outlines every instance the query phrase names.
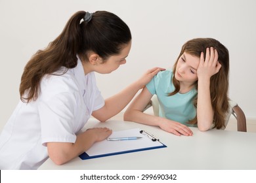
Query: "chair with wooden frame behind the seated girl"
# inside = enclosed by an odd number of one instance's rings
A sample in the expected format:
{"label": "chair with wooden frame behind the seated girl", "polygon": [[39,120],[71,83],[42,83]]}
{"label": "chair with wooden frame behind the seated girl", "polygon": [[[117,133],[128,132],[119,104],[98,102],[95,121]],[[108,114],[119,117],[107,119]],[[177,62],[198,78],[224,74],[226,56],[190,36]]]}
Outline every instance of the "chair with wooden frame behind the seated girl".
{"label": "chair with wooden frame behind the seated girl", "polygon": [[[229,118],[232,114],[236,118],[238,131],[246,132],[247,128],[246,128],[246,118],[245,118],[244,111],[242,110],[242,108],[238,106],[237,103],[235,103],[232,100],[229,101],[229,105],[230,105],[230,110],[226,115],[225,125],[228,124]],[[152,97],[151,101],[148,103],[148,105],[146,105],[143,111],[145,111],[150,107],[153,107],[154,115],[159,116],[159,103],[158,103],[158,97],[156,95]]]}

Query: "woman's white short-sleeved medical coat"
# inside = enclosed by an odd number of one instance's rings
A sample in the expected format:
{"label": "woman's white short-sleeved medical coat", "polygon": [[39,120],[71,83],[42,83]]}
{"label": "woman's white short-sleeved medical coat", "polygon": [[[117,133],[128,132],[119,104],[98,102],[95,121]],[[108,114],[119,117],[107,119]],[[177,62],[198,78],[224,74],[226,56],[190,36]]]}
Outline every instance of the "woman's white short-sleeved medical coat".
{"label": "woman's white short-sleeved medical coat", "polygon": [[[57,73],[64,71],[60,69]],[[104,106],[95,74],[81,60],[64,75],[43,77],[36,101],[18,103],[0,136],[0,169],[37,169],[47,158],[47,142],[75,142],[93,110]]]}

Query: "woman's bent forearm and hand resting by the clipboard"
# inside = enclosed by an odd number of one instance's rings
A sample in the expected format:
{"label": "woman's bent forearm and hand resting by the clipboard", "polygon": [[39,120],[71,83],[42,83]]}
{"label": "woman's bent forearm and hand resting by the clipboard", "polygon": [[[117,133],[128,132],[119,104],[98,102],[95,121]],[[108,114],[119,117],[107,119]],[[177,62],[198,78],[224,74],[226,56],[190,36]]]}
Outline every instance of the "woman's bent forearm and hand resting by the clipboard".
{"label": "woman's bent forearm and hand resting by the clipboard", "polygon": [[49,157],[56,165],[62,165],[91,148],[95,142],[102,141],[111,134],[112,130],[106,127],[92,128],[77,135],[75,143],[48,142]]}

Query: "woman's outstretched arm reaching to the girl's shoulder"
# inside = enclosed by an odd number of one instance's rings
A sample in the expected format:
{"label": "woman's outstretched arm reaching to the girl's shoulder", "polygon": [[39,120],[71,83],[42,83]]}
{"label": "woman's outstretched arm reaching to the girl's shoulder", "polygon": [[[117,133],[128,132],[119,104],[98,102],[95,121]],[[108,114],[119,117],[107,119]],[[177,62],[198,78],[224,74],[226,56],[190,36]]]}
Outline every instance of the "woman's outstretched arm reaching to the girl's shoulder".
{"label": "woman's outstretched arm reaching to the girl's shoulder", "polygon": [[165,69],[159,67],[148,70],[139,80],[127,86],[127,88],[117,93],[116,95],[106,99],[104,107],[95,110],[93,112],[93,116],[97,120],[100,120],[100,122],[105,122],[109,118],[112,118],[112,116],[115,116],[121,112],[121,110],[123,110],[123,108],[128,105],[135,94],[148,82],[150,82],[154,75],[163,70]]}

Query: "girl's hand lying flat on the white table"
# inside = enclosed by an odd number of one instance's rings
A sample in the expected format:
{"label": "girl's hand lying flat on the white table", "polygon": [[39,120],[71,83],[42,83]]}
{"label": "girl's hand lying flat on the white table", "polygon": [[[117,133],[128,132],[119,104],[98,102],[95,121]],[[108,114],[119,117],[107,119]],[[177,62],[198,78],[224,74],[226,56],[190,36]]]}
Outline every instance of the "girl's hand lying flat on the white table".
{"label": "girl's hand lying flat on the white table", "polygon": [[171,120],[164,119],[159,124],[160,128],[169,133],[173,133],[174,135],[181,136],[192,136],[192,130],[179,122],[174,122]]}

